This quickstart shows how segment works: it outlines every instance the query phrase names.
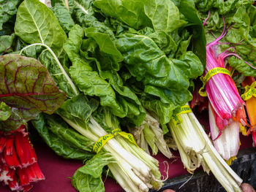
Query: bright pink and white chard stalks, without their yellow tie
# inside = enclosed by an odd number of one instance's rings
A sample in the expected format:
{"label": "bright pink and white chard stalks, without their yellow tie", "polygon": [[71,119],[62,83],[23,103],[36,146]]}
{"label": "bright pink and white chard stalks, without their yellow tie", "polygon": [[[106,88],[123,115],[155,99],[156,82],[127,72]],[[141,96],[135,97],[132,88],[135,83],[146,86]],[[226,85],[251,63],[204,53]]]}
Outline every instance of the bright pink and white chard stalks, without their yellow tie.
{"label": "bright pink and white chard stalks, without their yellow tie", "polygon": [[[219,40],[227,34],[224,19],[223,23],[222,34],[206,45],[205,74],[217,67],[225,68],[225,58],[230,55],[240,58],[236,53],[230,51],[234,47],[228,48],[223,53],[217,53],[218,45],[222,44]],[[214,147],[225,160],[237,155],[240,123],[243,126],[246,125],[244,101],[241,99],[236,84],[230,76],[230,74],[217,73],[206,82],[211,138],[214,140]]]}

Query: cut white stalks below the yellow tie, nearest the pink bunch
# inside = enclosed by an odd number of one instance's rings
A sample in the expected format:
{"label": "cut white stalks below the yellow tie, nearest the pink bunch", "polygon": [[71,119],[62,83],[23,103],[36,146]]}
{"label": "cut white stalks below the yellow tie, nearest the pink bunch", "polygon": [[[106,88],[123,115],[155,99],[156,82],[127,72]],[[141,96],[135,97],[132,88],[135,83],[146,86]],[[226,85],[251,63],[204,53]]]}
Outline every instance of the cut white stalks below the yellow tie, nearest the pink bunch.
{"label": "cut white stalks below the yellow tie, nearest the pink bunch", "polygon": [[205,172],[211,170],[227,192],[241,191],[239,186],[243,180],[219,155],[194,113],[180,114],[180,117],[180,124],[171,121],[169,126],[188,172],[192,173],[202,165]]}

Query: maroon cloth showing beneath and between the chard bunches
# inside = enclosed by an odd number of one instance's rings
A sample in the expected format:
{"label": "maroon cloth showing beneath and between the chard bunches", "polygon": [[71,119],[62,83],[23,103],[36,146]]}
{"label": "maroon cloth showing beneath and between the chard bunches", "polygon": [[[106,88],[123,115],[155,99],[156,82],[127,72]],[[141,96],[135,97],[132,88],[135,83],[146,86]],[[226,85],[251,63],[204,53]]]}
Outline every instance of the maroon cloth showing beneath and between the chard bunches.
{"label": "maroon cloth showing beneath and between the chard bunches", "polygon": [[[206,113],[197,115],[206,129],[208,129],[208,115]],[[241,149],[252,147],[252,137],[244,137],[241,135]],[[75,170],[82,166],[81,161],[72,161],[59,157],[50,148],[42,143],[34,143],[34,148],[37,153],[38,164],[45,174],[45,180],[34,183],[31,192],[75,192],[72,187],[71,179]],[[176,158],[167,159],[164,155],[158,154],[155,156],[159,160],[159,169],[164,177],[166,177],[166,166],[164,161],[169,164],[168,177],[176,177],[182,174],[187,174],[187,170],[178,156],[178,152],[173,152]],[[111,178],[103,178],[105,181],[105,192],[123,192],[122,188],[116,184],[116,181]],[[7,186],[0,186],[1,192],[10,192]],[[97,192],[97,191],[95,191]]]}

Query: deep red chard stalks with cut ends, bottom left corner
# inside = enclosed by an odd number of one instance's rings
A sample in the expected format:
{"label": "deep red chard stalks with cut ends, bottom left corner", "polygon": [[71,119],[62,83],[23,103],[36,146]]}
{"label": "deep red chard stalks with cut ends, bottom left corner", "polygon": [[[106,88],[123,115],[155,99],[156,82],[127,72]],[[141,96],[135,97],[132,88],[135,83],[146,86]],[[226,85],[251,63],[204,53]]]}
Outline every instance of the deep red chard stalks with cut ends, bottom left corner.
{"label": "deep red chard stalks with cut ends, bottom left corner", "polygon": [[0,181],[12,191],[29,191],[32,183],[45,180],[26,126],[0,133]]}

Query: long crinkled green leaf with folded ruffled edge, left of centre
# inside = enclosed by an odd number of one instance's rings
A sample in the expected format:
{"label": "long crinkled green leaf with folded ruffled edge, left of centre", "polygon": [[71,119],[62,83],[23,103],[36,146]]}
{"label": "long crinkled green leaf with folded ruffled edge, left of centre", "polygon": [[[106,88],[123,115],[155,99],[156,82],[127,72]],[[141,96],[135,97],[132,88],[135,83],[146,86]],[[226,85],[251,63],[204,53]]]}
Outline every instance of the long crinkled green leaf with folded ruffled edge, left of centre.
{"label": "long crinkled green leaf with folded ruffled edge, left of centre", "polygon": [[[69,32],[69,39],[64,49],[72,61],[72,66],[69,69],[72,80],[86,95],[99,96],[100,104],[103,107],[108,107],[114,115],[120,118],[127,117],[136,125],[140,125],[146,113],[135,93],[123,85],[116,72],[120,67],[118,61],[123,59],[122,55],[108,34],[99,32],[93,34],[91,33],[92,29],[86,30],[92,41],[90,39],[82,40],[84,34],[80,26],[75,26]],[[91,49],[93,55],[89,56]],[[99,72],[89,64],[92,61],[94,64],[96,63]]]}

